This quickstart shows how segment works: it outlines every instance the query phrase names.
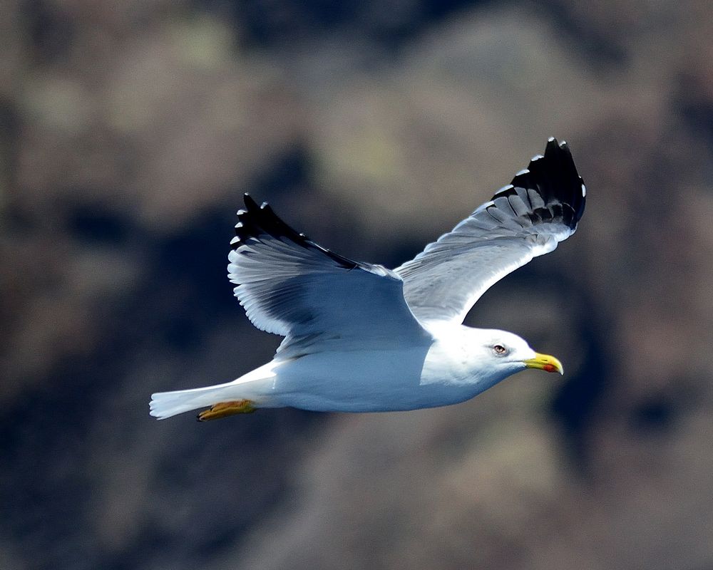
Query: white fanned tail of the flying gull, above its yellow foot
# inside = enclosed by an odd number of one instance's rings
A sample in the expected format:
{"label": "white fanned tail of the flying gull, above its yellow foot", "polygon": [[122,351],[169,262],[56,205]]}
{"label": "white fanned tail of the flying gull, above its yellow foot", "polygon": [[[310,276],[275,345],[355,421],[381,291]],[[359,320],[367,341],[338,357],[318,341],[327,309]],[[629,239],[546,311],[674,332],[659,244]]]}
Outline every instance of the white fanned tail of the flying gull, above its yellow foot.
{"label": "white fanned tail of the flying gull, above its yellow foot", "polygon": [[272,385],[272,379],[275,377],[275,373],[272,372],[274,366],[272,362],[267,363],[225,384],[151,394],[149,413],[154,418],[165,420],[172,415],[232,400],[252,400],[253,403],[265,406],[267,402],[262,395],[266,393],[265,382]]}

